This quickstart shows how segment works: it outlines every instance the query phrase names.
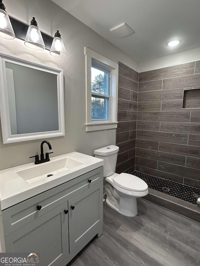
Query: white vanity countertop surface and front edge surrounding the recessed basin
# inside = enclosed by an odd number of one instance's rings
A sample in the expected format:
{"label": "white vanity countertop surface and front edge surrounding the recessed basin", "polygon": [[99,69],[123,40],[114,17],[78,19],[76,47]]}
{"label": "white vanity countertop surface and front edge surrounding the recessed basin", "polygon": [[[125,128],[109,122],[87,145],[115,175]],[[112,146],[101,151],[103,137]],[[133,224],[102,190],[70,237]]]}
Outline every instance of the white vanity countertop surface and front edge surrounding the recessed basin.
{"label": "white vanity countertop surface and front edge surrounding the recessed basin", "polygon": [[[75,160],[79,160],[83,162],[83,164],[51,177],[38,180],[31,184],[27,183],[16,172],[28,169],[30,167],[33,167],[34,171],[34,167],[37,167],[34,162],[1,170],[0,200],[2,210],[103,166],[103,160],[79,152],[71,152],[68,154],[52,157],[50,158],[50,162],[66,158],[66,156]],[[50,162],[45,162],[44,164],[48,164]]]}

